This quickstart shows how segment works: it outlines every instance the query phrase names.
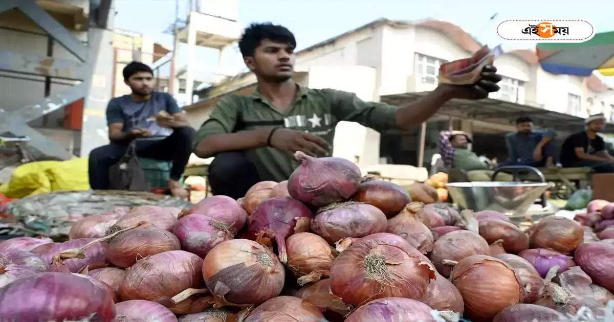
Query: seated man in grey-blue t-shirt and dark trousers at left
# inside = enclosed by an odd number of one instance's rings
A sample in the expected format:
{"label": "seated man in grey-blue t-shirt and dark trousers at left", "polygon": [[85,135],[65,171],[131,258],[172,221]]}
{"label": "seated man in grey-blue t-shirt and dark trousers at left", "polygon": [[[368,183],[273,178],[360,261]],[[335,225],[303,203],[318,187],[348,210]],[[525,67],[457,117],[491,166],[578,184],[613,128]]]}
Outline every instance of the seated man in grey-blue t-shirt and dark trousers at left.
{"label": "seated man in grey-blue t-shirt and dark trousers at left", "polygon": [[109,168],[119,162],[128,144],[136,140],[138,156],[173,161],[171,194],[187,197],[179,178],[192,153],[194,129],[172,96],[153,91],[153,72],[149,66],[133,61],[124,67],[123,78],[132,93],[109,101],[106,113],[111,144],[90,152],[91,188],[109,189]]}

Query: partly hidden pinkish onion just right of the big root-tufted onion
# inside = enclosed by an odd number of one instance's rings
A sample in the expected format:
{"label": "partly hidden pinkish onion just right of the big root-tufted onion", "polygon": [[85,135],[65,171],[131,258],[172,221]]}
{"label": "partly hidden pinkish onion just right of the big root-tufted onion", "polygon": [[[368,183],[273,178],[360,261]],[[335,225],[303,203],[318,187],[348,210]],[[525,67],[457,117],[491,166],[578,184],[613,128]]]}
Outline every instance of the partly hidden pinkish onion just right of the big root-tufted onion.
{"label": "partly hidden pinkish onion just right of the big root-tufted onion", "polygon": [[465,302],[459,290],[448,278],[439,273],[435,280],[429,283],[429,288],[420,301],[429,305],[433,310],[458,312],[461,313],[461,316],[465,308]]}

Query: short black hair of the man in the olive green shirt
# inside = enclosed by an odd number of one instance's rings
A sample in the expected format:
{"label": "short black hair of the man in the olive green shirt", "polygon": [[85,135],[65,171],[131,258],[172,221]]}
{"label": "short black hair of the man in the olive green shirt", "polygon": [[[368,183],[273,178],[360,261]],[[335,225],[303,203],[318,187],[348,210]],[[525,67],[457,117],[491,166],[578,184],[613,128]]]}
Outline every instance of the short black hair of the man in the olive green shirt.
{"label": "short black hair of the man in the olive green shirt", "polygon": [[274,42],[281,42],[292,45],[293,48],[297,47],[297,40],[294,39],[288,28],[279,25],[273,25],[270,22],[265,23],[252,23],[241,36],[239,40],[239,50],[243,57],[254,56],[256,47],[260,45],[263,39],[268,39]]}

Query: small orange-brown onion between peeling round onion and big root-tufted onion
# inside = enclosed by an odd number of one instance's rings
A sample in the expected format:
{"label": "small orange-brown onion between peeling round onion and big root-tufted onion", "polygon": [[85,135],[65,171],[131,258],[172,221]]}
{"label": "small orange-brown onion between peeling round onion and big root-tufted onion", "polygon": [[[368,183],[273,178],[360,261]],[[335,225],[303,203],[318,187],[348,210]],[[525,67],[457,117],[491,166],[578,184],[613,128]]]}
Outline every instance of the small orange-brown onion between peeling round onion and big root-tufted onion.
{"label": "small orange-brown onion between peeling round onion and big root-tufted onion", "polygon": [[333,249],[326,240],[311,232],[299,232],[286,239],[288,267],[298,277],[298,285],[328,277],[333,264]]}

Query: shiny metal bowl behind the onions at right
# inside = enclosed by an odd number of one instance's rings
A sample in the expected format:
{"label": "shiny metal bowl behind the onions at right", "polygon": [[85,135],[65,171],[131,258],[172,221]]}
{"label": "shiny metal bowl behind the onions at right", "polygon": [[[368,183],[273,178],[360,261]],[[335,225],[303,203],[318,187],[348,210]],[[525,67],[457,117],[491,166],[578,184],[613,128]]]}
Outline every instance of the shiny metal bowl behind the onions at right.
{"label": "shiny metal bowl behind the onions at right", "polygon": [[462,209],[496,210],[509,216],[524,215],[548,188],[535,182],[456,182],[448,191]]}

